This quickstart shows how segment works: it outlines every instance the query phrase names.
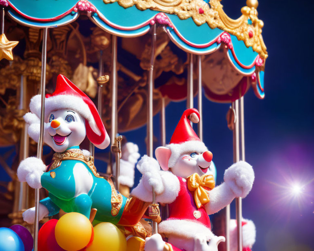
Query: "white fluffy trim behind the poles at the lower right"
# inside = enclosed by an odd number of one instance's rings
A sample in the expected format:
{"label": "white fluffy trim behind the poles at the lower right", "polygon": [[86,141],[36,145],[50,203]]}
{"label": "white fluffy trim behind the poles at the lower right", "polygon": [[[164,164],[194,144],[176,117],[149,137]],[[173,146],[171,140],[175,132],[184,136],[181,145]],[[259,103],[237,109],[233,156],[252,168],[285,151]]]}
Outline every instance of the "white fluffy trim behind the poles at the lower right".
{"label": "white fluffy trim behind the poles at the lower right", "polygon": [[[256,238],[256,228],[251,220],[242,219],[242,222],[246,222],[242,226],[242,247],[252,248]],[[230,251],[236,251],[238,246],[238,232],[237,223],[235,219],[230,220]]]}

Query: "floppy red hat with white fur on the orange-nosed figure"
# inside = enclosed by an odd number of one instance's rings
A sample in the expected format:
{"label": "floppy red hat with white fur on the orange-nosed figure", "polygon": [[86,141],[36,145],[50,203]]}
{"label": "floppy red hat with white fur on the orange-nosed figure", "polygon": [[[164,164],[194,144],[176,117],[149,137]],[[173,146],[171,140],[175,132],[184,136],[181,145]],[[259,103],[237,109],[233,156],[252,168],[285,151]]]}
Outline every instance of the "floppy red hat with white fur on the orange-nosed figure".
{"label": "floppy red hat with white fur on the orange-nosed figure", "polygon": [[[93,101],[67,77],[59,74],[56,90],[45,97],[45,122],[48,122],[48,115],[52,111],[65,108],[84,117],[86,135],[96,147],[105,149],[109,146],[110,138]],[[30,100],[30,111],[40,118],[41,95]]]}

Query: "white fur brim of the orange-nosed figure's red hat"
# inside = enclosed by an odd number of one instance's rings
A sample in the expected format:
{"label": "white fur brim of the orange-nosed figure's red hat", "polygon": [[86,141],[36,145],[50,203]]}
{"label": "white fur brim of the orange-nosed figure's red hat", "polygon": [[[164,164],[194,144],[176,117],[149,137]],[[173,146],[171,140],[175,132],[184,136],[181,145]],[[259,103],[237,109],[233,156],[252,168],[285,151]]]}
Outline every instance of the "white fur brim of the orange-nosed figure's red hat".
{"label": "white fur brim of the orange-nosed figure's red hat", "polygon": [[[82,117],[88,120],[90,127],[96,134],[100,135],[100,131],[95,123],[94,117],[90,112],[88,105],[80,97],[74,95],[56,95],[45,98],[45,119],[48,115],[58,109],[72,109],[78,112]],[[40,118],[41,115],[41,95],[36,95],[30,100],[30,111]]]}

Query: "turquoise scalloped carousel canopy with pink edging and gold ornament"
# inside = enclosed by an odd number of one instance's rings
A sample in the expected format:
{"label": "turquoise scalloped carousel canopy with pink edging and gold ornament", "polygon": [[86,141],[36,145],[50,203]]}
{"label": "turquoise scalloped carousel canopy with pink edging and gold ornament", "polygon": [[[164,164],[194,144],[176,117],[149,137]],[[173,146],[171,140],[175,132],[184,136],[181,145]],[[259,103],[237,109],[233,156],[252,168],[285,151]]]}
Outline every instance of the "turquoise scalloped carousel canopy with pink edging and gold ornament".
{"label": "turquoise scalloped carousel canopy with pink edging and gold ornament", "polygon": [[[258,98],[264,97],[267,51],[261,35],[263,21],[257,17],[257,0],[248,0],[236,20],[225,14],[219,0],[209,3],[203,0],[10,0],[7,3],[8,14],[15,21],[37,28],[66,25],[84,13],[108,33],[137,37],[146,34],[150,25],[157,22],[163,25],[176,46],[192,54],[206,55],[203,82],[209,99],[230,102],[244,95],[251,85]],[[222,45],[224,54],[209,55],[219,51]],[[217,66],[225,59],[232,69],[227,67],[217,74],[212,65]],[[234,92],[230,94],[230,90]]]}

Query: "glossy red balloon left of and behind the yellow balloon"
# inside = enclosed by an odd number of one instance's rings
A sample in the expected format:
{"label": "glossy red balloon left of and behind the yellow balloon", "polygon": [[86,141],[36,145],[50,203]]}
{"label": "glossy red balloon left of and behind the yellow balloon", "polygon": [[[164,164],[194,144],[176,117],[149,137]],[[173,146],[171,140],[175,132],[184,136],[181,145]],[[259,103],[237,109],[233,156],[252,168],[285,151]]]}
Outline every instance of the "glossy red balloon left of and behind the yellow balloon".
{"label": "glossy red balloon left of and behind the yellow balloon", "polygon": [[55,228],[58,220],[47,221],[38,232],[38,251],[66,251],[61,248],[55,237]]}

